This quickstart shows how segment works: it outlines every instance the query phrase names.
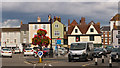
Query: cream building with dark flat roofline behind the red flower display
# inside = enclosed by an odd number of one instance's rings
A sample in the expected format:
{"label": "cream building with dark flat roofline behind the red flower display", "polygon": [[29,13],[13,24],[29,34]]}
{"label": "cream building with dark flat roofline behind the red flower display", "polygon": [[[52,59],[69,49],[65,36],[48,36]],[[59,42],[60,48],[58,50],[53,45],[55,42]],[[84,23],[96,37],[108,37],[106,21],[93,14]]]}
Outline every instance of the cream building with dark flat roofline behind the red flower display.
{"label": "cream building with dark flat roofline behind the red flower display", "polygon": [[[37,34],[38,29],[44,29],[47,31],[46,36],[51,38],[51,23],[41,22],[40,17],[38,17],[37,22],[29,22],[29,43],[32,43],[32,38]],[[33,45],[31,44],[33,47]]]}

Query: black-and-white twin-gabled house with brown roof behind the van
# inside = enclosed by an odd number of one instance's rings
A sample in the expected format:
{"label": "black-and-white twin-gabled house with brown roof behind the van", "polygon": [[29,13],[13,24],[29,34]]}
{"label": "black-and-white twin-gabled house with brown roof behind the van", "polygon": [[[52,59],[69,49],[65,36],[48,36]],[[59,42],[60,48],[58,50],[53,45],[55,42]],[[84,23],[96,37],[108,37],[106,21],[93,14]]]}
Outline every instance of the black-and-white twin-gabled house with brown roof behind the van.
{"label": "black-and-white twin-gabled house with brown roof behind the van", "polygon": [[78,24],[75,20],[70,23],[68,20],[68,45],[73,42],[93,42],[94,45],[101,45],[100,23],[91,21],[86,24],[82,17]]}

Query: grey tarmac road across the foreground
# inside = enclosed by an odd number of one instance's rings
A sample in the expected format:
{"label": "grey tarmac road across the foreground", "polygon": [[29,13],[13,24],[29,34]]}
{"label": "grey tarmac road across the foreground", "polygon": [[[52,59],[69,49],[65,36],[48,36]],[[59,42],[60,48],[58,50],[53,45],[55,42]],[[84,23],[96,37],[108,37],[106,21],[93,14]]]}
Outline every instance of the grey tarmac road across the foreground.
{"label": "grey tarmac road across the foreground", "polygon": [[[94,60],[93,61],[74,61],[74,62],[68,62],[67,57],[55,57],[55,58],[44,58],[42,63],[38,63],[39,58],[34,58],[33,56],[26,56],[24,57],[23,54],[13,54],[12,58],[9,57],[3,57],[2,58],[2,66],[30,66],[37,68],[39,66],[41,67],[64,67],[64,66],[70,66],[70,67],[108,67],[109,66],[109,59],[105,58],[105,62],[102,63],[102,59],[98,59],[98,65],[95,65]],[[113,66],[120,66],[120,62],[112,62]]]}

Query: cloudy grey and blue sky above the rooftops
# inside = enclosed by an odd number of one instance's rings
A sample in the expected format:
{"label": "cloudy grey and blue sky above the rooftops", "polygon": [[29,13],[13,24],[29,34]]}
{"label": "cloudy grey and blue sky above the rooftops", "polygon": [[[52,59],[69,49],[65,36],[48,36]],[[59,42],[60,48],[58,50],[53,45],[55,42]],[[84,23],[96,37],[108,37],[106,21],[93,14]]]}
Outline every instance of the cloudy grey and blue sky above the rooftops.
{"label": "cloudy grey and blue sky above the rooftops", "polygon": [[21,20],[24,24],[37,22],[38,16],[41,17],[41,21],[48,21],[48,14],[51,14],[52,18],[60,16],[62,23],[66,26],[68,19],[70,22],[75,19],[79,23],[81,17],[86,18],[86,23],[94,21],[95,23],[100,22],[101,26],[104,26],[109,25],[110,19],[118,13],[118,2],[111,0],[110,2],[6,0],[0,5],[2,5],[2,11],[0,11],[2,12],[2,21],[0,22],[2,27],[19,27]]}

